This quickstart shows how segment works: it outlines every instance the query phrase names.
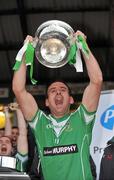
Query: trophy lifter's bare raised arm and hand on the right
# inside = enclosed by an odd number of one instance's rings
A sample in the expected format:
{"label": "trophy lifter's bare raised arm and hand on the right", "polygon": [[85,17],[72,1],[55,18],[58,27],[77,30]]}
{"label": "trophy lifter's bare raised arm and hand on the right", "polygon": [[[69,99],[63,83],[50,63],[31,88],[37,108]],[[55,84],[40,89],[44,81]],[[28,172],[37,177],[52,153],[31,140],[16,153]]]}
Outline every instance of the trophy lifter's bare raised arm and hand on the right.
{"label": "trophy lifter's bare raised arm and hand on the right", "polygon": [[[77,31],[76,35],[82,35],[83,38],[86,40],[86,36],[82,32]],[[98,62],[92,54],[91,50],[89,49],[89,58],[87,58],[83,52],[82,55],[90,79],[89,85],[86,87],[84,91],[82,103],[87,108],[87,110],[91,112],[97,109],[102,88],[103,77]]]}

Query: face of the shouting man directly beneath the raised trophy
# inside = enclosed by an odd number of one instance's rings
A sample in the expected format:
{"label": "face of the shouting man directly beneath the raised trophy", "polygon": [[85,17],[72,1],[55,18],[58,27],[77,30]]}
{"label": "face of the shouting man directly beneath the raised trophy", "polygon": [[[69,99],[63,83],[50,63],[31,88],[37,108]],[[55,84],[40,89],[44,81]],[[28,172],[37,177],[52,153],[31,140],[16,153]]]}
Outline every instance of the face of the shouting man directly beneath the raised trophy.
{"label": "face of the shouting man directly beneath the raised trophy", "polygon": [[69,95],[68,87],[64,83],[52,83],[48,88],[47,95],[46,106],[54,116],[59,118],[69,112],[73,98]]}

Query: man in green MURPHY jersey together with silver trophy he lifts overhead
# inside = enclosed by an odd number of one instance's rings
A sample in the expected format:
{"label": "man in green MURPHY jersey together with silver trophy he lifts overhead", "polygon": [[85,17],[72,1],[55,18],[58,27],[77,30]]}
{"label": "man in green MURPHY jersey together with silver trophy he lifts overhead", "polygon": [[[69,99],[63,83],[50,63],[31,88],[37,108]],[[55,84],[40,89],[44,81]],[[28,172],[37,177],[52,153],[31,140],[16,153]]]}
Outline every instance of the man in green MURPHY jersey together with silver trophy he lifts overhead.
{"label": "man in green MURPHY jersey together with silver trophy he lifts overhead", "polygon": [[[82,71],[80,52],[89,78],[82,102],[71,111],[74,103],[71,89],[62,78],[56,79],[48,82],[46,88],[44,104],[49,109],[48,114],[45,107],[44,110],[39,107],[40,96],[35,99],[26,89],[26,65],[31,65],[32,72],[35,54],[46,68],[61,68],[69,63],[79,72]],[[65,22],[47,21],[39,26],[35,37],[26,37],[16,60],[15,67],[21,66],[14,72],[12,89],[35,138],[39,157],[37,170],[41,179],[93,180],[90,143],[102,88],[102,72],[86,43],[86,36],[79,30],[74,32]]]}

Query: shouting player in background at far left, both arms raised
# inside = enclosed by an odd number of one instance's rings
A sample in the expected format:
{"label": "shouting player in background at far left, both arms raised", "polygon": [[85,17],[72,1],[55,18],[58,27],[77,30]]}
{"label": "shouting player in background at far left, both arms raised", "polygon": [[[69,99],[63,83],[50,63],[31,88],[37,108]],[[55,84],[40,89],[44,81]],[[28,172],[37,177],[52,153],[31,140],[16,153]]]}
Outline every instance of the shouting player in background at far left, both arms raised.
{"label": "shouting player in background at far left, both arms raised", "polygon": [[[27,128],[26,123],[23,118],[23,114],[15,103],[12,103],[9,106],[10,110],[16,111],[17,120],[18,120],[18,128],[19,128],[19,136],[17,139],[17,153],[14,156],[13,154],[13,146],[12,146],[12,125],[9,118],[9,109],[8,107],[4,108],[5,116],[6,116],[6,126],[5,126],[5,136],[0,138],[0,156],[1,156],[1,166],[6,165],[6,167],[11,166],[19,171],[26,171],[27,161],[28,161],[28,143],[27,143]],[[12,165],[7,164],[7,158],[14,157],[12,160]],[[5,162],[6,161],[6,162]],[[4,162],[4,163],[3,163]],[[14,166],[14,164],[16,165]]]}

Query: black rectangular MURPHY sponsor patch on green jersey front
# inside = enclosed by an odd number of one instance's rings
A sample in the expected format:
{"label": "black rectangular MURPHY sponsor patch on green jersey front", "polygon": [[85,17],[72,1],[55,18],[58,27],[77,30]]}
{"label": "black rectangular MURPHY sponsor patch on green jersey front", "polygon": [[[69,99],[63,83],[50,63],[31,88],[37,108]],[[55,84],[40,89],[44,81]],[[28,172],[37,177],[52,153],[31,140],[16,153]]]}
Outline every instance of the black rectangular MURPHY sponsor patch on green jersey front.
{"label": "black rectangular MURPHY sponsor patch on green jersey front", "polygon": [[54,147],[44,147],[43,155],[44,156],[54,156],[54,155],[62,155],[69,153],[77,153],[78,147],[77,144],[70,144],[66,146],[54,146]]}

